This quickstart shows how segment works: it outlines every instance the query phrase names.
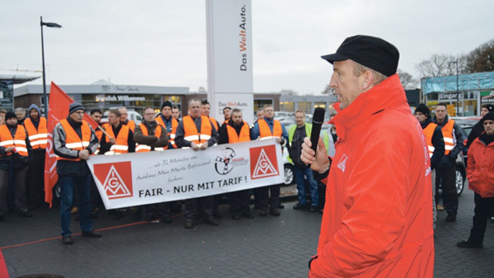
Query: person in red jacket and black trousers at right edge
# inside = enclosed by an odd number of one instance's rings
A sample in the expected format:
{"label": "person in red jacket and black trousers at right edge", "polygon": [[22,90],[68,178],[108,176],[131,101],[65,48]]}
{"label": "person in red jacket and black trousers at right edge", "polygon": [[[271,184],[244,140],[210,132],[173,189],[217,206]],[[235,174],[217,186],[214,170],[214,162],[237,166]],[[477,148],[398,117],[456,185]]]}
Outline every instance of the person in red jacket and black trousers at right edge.
{"label": "person in red jacket and black trousers at right edge", "polygon": [[490,209],[494,208],[494,112],[485,114],[481,122],[485,132],[470,145],[466,167],[468,188],[475,192],[473,227],[467,239],[456,243],[459,247],[482,247]]}

